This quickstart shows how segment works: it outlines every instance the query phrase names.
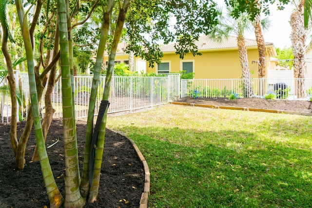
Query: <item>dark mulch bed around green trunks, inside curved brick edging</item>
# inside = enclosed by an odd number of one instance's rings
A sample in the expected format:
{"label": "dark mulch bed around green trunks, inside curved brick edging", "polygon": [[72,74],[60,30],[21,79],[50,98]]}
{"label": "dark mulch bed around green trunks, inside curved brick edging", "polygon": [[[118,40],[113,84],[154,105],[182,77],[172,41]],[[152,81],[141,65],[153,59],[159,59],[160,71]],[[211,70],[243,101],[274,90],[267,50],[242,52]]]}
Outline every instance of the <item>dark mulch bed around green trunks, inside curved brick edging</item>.
{"label": "dark mulch bed around green trunks, inside curved brick edging", "polygon": [[[83,163],[85,123],[77,121],[80,172]],[[23,131],[24,124],[18,123],[18,136]],[[43,208],[45,205],[49,207],[40,164],[31,162],[36,144],[34,133],[32,132],[27,143],[25,169],[17,170],[9,132],[10,125],[0,124],[0,208]],[[59,142],[47,149],[47,152],[54,177],[64,196],[63,130],[59,119],[51,124],[46,146],[53,144],[57,139]],[[138,208],[143,189],[143,165],[136,151],[125,137],[107,130],[98,201],[85,207]],[[125,204],[124,200],[129,203]]]}

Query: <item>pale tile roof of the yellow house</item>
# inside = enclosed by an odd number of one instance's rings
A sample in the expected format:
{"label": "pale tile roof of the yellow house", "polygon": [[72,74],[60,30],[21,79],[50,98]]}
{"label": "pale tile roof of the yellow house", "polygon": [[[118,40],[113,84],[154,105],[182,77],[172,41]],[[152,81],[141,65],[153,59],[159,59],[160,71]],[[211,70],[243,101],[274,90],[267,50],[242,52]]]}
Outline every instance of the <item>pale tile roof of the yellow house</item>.
{"label": "pale tile roof of the yellow house", "polygon": [[[245,38],[246,46],[252,47],[257,46],[257,42],[253,39]],[[229,49],[229,48],[237,48],[237,39],[234,36],[229,36],[227,39],[224,39],[222,42],[217,42],[208,38],[207,36],[201,36],[198,38],[198,41],[195,41],[195,44],[198,47],[198,51],[202,50],[213,50],[213,49]],[[265,45],[272,45],[273,43],[265,42]],[[175,52],[175,43],[169,43],[167,45],[160,46],[160,50],[162,52]]]}

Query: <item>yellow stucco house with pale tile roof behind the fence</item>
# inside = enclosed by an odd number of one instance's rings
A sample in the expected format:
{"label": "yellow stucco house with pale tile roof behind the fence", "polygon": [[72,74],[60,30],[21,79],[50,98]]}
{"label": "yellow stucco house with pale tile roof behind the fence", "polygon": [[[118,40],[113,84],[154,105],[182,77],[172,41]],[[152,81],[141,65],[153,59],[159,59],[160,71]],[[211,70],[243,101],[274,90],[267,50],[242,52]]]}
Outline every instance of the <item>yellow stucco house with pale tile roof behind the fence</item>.
{"label": "yellow stucco house with pale tile roof behind the fence", "polygon": [[[135,57],[134,69],[137,72],[155,72],[157,74],[178,73],[181,70],[194,72],[196,79],[226,79],[240,78],[241,67],[238,57],[236,37],[230,36],[222,42],[216,42],[207,36],[201,36],[195,42],[201,56],[193,56],[187,54],[183,59],[176,54],[174,43],[160,46],[163,52],[163,58],[160,64],[156,64],[154,68],[149,67],[148,62],[141,58]],[[276,56],[273,43],[266,42],[266,60]],[[124,53],[122,48],[124,44],[120,44],[116,54],[116,62],[128,63],[129,55]],[[257,43],[255,40],[246,39],[246,48],[249,60],[250,70],[253,78],[258,78],[259,60]],[[271,64],[267,64],[267,70],[271,70]]]}

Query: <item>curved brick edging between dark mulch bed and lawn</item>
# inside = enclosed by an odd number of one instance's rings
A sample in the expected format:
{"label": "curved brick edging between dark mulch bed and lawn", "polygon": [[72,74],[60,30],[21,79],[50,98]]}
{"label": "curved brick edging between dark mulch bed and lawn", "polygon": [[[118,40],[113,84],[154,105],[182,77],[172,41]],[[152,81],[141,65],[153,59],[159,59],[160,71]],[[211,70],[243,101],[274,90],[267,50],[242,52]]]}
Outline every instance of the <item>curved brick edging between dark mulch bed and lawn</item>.
{"label": "curved brick edging between dark mulch bed and lawn", "polygon": [[137,156],[139,157],[139,159],[141,160],[141,162],[143,164],[143,167],[144,167],[144,191],[143,191],[143,193],[141,195],[140,207],[139,208],[147,208],[148,195],[150,194],[150,185],[151,185],[150,170],[148,168],[147,162],[146,162],[143,154],[141,153],[141,151],[138,149],[136,143],[132,139],[128,138],[122,132],[117,132],[117,131],[114,131],[114,130],[111,130],[111,129],[109,129],[109,130],[112,131],[112,132],[115,132],[117,134],[120,134],[120,135],[124,136],[125,138],[127,138],[131,142],[133,148],[136,150]]}

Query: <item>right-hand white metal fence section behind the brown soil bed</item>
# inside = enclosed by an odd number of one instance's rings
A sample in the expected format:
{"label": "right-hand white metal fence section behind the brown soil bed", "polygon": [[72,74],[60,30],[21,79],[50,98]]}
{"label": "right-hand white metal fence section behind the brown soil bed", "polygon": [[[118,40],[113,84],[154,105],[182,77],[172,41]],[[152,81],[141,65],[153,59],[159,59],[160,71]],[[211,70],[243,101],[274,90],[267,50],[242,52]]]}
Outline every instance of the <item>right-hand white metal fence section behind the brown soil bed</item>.
{"label": "right-hand white metal fence section behind the brown soil bed", "polygon": [[181,80],[181,97],[227,98],[236,94],[240,97],[263,98],[263,95],[271,92],[276,93],[277,98],[309,99],[312,96],[312,78]]}

